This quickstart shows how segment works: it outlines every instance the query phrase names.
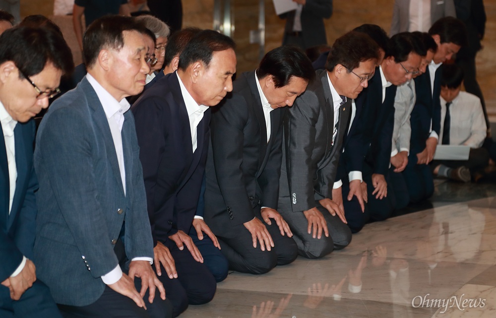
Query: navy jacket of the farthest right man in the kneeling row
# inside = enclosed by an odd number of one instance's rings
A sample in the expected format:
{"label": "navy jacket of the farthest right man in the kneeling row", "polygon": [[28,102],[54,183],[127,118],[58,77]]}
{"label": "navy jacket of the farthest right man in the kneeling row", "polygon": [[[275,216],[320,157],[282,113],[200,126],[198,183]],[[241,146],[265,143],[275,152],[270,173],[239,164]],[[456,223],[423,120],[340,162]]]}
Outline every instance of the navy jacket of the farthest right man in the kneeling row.
{"label": "navy jacket of the farthest right man in the kneeling row", "polygon": [[426,140],[429,138],[432,130],[437,135],[441,129],[441,74],[442,67],[436,69],[434,75],[434,94],[431,89],[431,75],[429,67],[426,72],[415,80],[415,92],[417,100],[410,116],[410,124],[412,126],[412,135],[410,137],[410,159],[409,165],[417,164],[417,154],[426,148]]}

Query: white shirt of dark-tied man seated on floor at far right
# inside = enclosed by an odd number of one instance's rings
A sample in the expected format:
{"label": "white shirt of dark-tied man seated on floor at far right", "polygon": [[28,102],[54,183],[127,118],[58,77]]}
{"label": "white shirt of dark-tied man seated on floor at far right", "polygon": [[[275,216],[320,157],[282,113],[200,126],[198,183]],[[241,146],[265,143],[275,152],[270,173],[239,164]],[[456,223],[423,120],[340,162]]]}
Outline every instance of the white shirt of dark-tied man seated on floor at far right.
{"label": "white shirt of dark-tied man seated on floor at far right", "polygon": [[[486,138],[486,120],[479,97],[460,92],[449,106],[449,144],[480,148]],[[438,143],[442,143],[446,101],[441,97],[441,130]]]}

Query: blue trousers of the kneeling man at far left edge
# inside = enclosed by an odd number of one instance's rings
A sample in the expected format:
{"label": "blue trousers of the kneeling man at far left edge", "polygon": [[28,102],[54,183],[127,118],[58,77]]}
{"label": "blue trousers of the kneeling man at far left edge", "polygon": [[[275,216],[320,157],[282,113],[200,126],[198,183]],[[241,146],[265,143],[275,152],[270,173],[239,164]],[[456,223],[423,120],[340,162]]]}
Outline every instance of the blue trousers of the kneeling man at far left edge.
{"label": "blue trousers of the kneeling man at far left edge", "polygon": [[10,298],[7,287],[0,285],[0,317],[62,318],[48,286],[39,279],[17,301]]}

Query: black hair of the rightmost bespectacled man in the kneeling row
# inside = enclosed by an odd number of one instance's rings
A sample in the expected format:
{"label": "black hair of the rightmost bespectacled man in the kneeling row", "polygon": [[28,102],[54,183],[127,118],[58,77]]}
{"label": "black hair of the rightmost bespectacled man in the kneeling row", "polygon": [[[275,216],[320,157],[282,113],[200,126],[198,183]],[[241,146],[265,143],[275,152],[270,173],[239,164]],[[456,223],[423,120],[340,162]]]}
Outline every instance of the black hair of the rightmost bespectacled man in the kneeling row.
{"label": "black hair of the rightmost bespectacled man in the kneeling row", "polygon": [[393,57],[394,62],[400,63],[408,60],[410,53],[425,57],[427,50],[419,37],[410,32],[401,32],[389,39],[388,49],[384,58]]}

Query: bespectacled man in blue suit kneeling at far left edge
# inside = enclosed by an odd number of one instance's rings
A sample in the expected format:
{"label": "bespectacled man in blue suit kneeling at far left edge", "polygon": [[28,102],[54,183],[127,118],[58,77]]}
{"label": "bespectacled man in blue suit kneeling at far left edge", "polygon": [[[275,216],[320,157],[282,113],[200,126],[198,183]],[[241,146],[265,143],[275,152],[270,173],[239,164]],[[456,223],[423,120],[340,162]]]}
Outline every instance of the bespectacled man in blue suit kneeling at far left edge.
{"label": "bespectacled man in blue suit kneeling at far left edge", "polygon": [[70,49],[49,29],[17,27],[0,36],[0,317],[61,317],[31,260],[38,211],[32,118],[72,67]]}

